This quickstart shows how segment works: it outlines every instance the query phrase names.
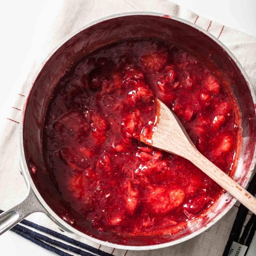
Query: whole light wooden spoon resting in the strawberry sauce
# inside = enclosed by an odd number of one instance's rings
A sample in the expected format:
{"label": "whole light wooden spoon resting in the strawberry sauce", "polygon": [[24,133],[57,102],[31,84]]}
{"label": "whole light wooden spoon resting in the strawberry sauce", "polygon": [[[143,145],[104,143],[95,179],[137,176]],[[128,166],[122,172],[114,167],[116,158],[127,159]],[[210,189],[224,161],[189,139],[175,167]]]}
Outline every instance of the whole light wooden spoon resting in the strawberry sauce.
{"label": "whole light wooden spoon resting in the strawberry sauce", "polygon": [[191,161],[256,214],[256,198],[197,150],[178,117],[159,99],[157,100],[157,118],[151,138],[146,138],[142,131],[140,136],[142,142]]}

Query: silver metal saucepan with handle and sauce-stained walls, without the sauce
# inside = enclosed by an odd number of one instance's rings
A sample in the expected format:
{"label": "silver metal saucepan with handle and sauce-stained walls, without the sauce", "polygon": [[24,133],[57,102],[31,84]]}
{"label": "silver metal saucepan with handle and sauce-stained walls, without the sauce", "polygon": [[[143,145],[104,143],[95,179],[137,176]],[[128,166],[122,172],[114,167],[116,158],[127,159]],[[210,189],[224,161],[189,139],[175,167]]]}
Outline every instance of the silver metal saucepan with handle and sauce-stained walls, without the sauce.
{"label": "silver metal saucepan with handle and sauce-stained walls, without the sauce", "polygon": [[233,178],[244,187],[248,183],[256,160],[256,98],[238,60],[218,39],[188,21],[161,13],[117,14],[90,23],[65,38],[36,72],[25,97],[20,126],[21,171],[28,185],[28,195],[22,203],[0,215],[0,233],[33,212],[43,212],[65,232],[74,232],[101,245],[132,250],[156,249],[181,243],[202,233],[234,205],[236,200],[223,193],[203,216],[188,221],[187,227],[177,234],[128,237],[96,230],[89,221],[70,209],[61,197],[54,177],[45,168],[42,152],[42,129],[51,93],[65,71],[80,57],[128,38],[158,38],[189,51],[210,53],[223,72],[232,76],[231,90],[241,110],[242,126],[241,150]]}

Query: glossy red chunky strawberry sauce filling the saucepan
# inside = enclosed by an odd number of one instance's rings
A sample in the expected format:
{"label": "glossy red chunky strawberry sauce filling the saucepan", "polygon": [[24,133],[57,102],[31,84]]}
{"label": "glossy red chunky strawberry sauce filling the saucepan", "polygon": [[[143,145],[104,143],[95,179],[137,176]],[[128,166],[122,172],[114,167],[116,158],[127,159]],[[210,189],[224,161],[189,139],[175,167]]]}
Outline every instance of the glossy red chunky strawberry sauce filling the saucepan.
{"label": "glossy red chunky strawberry sauce filling the saucepan", "polygon": [[208,57],[127,40],[84,56],[57,84],[43,131],[45,162],[65,201],[96,229],[163,234],[222,193],[188,160],[139,141],[159,98],[200,152],[231,170],[236,108],[228,77]]}

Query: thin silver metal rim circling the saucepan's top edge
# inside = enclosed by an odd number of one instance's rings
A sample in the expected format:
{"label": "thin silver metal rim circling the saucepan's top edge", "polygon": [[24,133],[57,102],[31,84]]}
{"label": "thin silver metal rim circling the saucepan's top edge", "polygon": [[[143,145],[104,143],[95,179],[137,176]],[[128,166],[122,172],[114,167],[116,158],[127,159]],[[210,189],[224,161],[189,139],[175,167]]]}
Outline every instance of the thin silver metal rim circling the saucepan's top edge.
{"label": "thin silver metal rim circling the saucepan's top edge", "polygon": [[[59,44],[57,44],[56,47],[53,48],[53,50],[51,51],[51,53],[48,54],[48,56],[45,58],[45,60],[42,62],[42,64],[39,66],[38,70],[36,71],[35,75],[33,76],[33,79],[27,89],[26,95],[25,95],[25,100],[24,100],[24,104],[23,104],[23,108],[22,108],[22,117],[21,117],[21,124],[20,125],[20,158],[21,158],[21,171],[24,175],[25,180],[27,180],[29,182],[28,186],[29,189],[30,187],[32,188],[34,194],[36,195],[37,199],[39,200],[39,202],[42,204],[42,206],[47,210],[47,212],[49,213],[50,216],[53,217],[53,219],[61,224],[62,226],[64,226],[65,228],[67,228],[68,230],[70,230],[71,232],[84,237],[86,239],[88,239],[91,242],[95,242],[97,244],[100,245],[105,245],[105,246],[109,246],[109,247],[113,247],[113,248],[117,248],[117,249],[125,249],[125,250],[151,250],[151,249],[159,249],[159,248],[164,248],[164,247],[168,247],[168,246],[172,246],[172,245],[176,245],[179,243],[182,243],[186,240],[189,240],[199,234],[201,234],[203,231],[205,231],[206,229],[208,229],[209,227],[211,227],[213,224],[215,224],[217,221],[219,221],[230,209],[231,207],[236,203],[236,199],[231,199],[230,203],[228,206],[226,206],[226,208],[219,214],[217,215],[211,222],[209,222],[208,224],[206,224],[205,226],[199,228],[198,230],[188,234],[188,235],[184,235],[181,238],[178,238],[174,241],[170,241],[167,243],[161,243],[158,245],[141,245],[141,246],[134,246],[134,245],[120,245],[120,244],[114,244],[114,243],[110,243],[107,241],[103,241],[103,240],[99,240],[96,239],[94,237],[91,237],[89,235],[86,235],[84,233],[82,233],[81,231],[75,229],[74,227],[72,227],[71,225],[69,225],[68,223],[66,223],[64,220],[62,220],[52,209],[51,207],[45,202],[45,200],[43,199],[43,197],[40,195],[39,191],[37,190],[34,182],[32,181],[32,177],[30,175],[28,166],[27,166],[27,162],[26,162],[26,158],[25,158],[25,152],[24,152],[24,146],[23,146],[23,120],[24,120],[24,115],[25,115],[25,110],[26,110],[26,102],[29,98],[30,95],[30,91],[34,85],[34,82],[37,78],[37,76],[39,75],[39,73],[41,72],[41,70],[43,69],[44,65],[46,64],[46,62],[53,56],[53,54],[63,45],[65,44],[68,40],[70,40],[73,36],[75,36],[77,33],[93,26],[96,25],[100,22],[106,21],[106,20],[110,20],[110,19],[115,19],[115,18],[120,18],[120,17],[126,17],[126,16],[157,16],[157,17],[162,17],[165,18],[166,16],[170,17],[171,19],[184,23],[186,25],[189,25],[193,28],[195,28],[196,30],[199,30],[200,32],[203,32],[205,35],[207,35],[208,37],[210,37],[210,39],[212,39],[213,41],[215,41],[215,43],[217,43],[220,47],[222,47],[224,49],[224,51],[228,54],[228,56],[234,61],[234,63],[237,65],[238,69],[240,70],[240,72],[242,73],[245,81],[247,82],[248,88],[250,90],[250,94],[252,96],[252,100],[253,103],[256,104],[256,96],[254,94],[252,85],[249,81],[249,78],[247,76],[247,74],[245,73],[245,70],[243,69],[242,65],[239,63],[239,61],[237,60],[237,58],[233,55],[233,53],[230,52],[230,50],[221,42],[219,41],[219,39],[217,39],[216,37],[214,37],[212,34],[210,34],[209,32],[205,31],[204,29],[202,29],[201,27],[199,27],[196,24],[193,24],[189,21],[186,21],[184,19],[178,18],[178,17],[174,17],[174,16],[170,16],[168,14],[164,14],[164,13],[158,13],[158,12],[144,12],[144,11],[138,11],[138,12],[124,12],[124,13],[118,13],[118,14],[114,14],[114,15],[110,15],[110,16],[106,16],[103,18],[100,18],[96,21],[90,22],[87,25],[84,25],[83,27],[79,28],[78,30],[76,30],[75,32],[71,33],[70,35],[68,35],[67,37],[65,37]],[[256,113],[255,113],[256,114]],[[255,163],[256,163],[256,147],[254,150],[254,154],[253,154],[253,160],[251,162],[250,168],[249,170],[253,170],[255,167]],[[252,172],[248,172],[247,176],[251,177]],[[249,182],[249,179],[246,179],[242,186],[245,187]]]}

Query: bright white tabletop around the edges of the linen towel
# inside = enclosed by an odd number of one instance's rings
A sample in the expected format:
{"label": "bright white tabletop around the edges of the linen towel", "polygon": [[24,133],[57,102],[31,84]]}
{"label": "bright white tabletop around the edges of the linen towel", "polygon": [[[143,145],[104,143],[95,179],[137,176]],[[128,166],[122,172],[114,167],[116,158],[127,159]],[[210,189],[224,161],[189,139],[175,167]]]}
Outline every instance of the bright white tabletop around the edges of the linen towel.
{"label": "bright white tabletop around the edges of the linen towel", "polygon": [[[256,36],[255,0],[173,0],[172,2],[205,18]],[[33,60],[44,43],[44,33],[51,29],[50,24],[61,6],[62,0],[9,0],[0,3],[0,118],[2,120],[8,117],[13,103],[12,95],[18,93],[20,85],[26,79]],[[0,123],[0,132],[2,129],[3,124]],[[35,253],[37,256],[53,255],[52,252],[11,231],[0,237],[0,255],[34,256]],[[256,236],[247,253],[247,256],[255,255]]]}

